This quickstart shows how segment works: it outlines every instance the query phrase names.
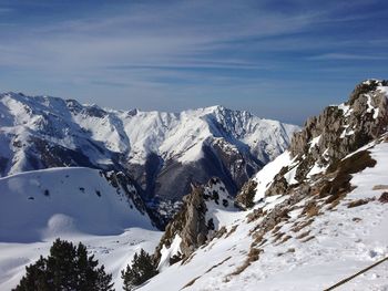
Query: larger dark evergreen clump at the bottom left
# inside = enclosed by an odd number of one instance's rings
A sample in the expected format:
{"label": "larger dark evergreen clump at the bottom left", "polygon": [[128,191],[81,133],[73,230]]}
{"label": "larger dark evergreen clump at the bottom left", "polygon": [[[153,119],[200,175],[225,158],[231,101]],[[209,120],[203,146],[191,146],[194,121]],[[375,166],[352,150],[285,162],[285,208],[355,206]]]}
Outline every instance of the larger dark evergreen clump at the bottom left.
{"label": "larger dark evergreen clump at the bottom left", "polygon": [[98,268],[94,256],[88,256],[81,242],[57,239],[47,258],[25,267],[25,276],[14,291],[111,291],[112,274],[106,274],[104,266]]}

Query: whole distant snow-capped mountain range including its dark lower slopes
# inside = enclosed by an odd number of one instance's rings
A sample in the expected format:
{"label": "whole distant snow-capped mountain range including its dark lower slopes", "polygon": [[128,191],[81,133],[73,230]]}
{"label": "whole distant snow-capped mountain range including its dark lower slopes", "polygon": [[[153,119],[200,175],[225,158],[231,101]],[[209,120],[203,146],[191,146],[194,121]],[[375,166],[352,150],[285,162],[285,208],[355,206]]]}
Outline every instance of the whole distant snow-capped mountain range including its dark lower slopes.
{"label": "whole distant snow-capped mountain range including its dark lower slopes", "polygon": [[122,170],[167,216],[192,181],[216,176],[235,194],[298,129],[222,106],[112,111],[14,93],[0,95],[0,125],[2,176],[65,166]]}

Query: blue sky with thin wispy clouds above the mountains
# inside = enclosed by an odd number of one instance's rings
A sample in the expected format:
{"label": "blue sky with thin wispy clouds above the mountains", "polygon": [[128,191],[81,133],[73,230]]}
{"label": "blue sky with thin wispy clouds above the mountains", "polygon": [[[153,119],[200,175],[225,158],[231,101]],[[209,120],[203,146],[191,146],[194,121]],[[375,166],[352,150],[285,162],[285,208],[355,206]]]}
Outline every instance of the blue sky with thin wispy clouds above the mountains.
{"label": "blue sky with thin wispy clouds above the mountains", "polygon": [[388,77],[384,0],[0,0],[0,91],[302,124]]}

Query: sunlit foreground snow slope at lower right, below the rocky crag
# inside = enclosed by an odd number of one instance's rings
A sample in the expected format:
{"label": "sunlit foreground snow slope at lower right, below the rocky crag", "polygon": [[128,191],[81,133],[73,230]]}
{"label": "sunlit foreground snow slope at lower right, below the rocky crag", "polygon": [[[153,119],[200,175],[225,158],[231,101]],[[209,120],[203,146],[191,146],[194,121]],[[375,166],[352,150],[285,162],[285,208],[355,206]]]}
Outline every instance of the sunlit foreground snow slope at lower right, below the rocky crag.
{"label": "sunlit foreground snow slope at lower right, below the rocky crag", "polygon": [[[334,210],[325,206],[309,225],[292,230],[308,220],[300,214],[309,198],[302,200],[288,220],[266,233],[259,259],[241,273],[253,242],[249,231],[257,224],[247,221],[249,211],[242,212],[239,221],[227,228],[227,238],[212,240],[188,262],[170,267],[140,290],[323,290],[387,257],[388,209],[377,199],[388,188],[388,144],[376,145],[370,152],[377,165],[354,175],[350,183],[357,188]],[[377,185],[385,186],[374,190]],[[348,208],[350,201],[365,198],[371,200]],[[273,199],[269,202],[270,207],[275,204]],[[289,238],[277,239],[282,232]],[[388,263],[338,290],[388,290]]]}

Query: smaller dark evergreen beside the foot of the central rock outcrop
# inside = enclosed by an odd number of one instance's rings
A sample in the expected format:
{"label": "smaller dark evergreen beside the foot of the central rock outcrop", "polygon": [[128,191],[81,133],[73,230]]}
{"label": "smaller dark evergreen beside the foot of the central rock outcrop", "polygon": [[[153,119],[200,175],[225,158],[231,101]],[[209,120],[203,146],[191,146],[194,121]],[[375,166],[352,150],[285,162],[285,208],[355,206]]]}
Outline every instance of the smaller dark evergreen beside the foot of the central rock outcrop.
{"label": "smaller dark evergreen beside the foot of the central rock outcrop", "polygon": [[131,291],[133,288],[156,276],[156,267],[157,266],[152,257],[146,251],[141,249],[140,254],[134,254],[132,264],[127,264],[126,269],[121,271],[121,278],[124,281],[123,289],[125,291]]}

